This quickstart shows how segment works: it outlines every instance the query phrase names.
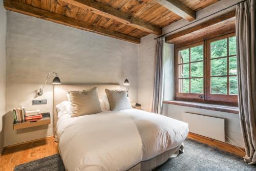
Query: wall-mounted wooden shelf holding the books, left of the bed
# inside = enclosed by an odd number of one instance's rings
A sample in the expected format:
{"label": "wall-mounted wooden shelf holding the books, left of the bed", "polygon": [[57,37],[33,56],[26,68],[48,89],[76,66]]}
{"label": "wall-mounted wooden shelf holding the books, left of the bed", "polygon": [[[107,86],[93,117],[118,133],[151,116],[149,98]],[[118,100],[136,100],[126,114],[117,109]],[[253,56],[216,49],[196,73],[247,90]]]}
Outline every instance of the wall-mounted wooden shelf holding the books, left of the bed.
{"label": "wall-mounted wooden shelf holding the books, left of the bed", "polygon": [[13,122],[13,129],[25,129],[27,127],[39,126],[39,125],[46,125],[51,123],[51,116],[50,113],[42,113],[41,119],[33,119],[33,120],[26,120],[26,121],[17,121]]}

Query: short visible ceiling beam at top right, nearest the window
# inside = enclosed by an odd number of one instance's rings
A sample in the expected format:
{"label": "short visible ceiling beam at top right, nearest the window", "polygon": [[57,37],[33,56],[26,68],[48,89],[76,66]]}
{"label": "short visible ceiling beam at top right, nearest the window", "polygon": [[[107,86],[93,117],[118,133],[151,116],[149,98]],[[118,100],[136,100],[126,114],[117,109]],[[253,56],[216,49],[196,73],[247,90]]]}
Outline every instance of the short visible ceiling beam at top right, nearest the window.
{"label": "short visible ceiling beam at top right, nearest the window", "polygon": [[179,0],[156,0],[156,2],[189,22],[196,19],[196,12],[185,6]]}

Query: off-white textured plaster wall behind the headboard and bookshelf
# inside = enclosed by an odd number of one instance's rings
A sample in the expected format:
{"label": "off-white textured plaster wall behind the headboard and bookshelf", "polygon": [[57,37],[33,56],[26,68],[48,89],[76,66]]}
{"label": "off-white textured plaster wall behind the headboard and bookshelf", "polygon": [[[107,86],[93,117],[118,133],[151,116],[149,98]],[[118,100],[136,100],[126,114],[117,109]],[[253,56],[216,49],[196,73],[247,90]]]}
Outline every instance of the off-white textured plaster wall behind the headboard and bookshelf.
{"label": "off-white textured plaster wall behind the headboard and bookshelf", "polygon": [[[7,12],[6,110],[25,106],[52,114],[52,85],[44,95],[47,105],[31,105],[48,72],[62,83],[119,83],[130,81],[129,97],[137,101],[138,45],[75,28]],[[51,82],[53,78],[49,80]],[[52,135],[52,124],[14,131],[13,116],[4,117],[5,145]]]}

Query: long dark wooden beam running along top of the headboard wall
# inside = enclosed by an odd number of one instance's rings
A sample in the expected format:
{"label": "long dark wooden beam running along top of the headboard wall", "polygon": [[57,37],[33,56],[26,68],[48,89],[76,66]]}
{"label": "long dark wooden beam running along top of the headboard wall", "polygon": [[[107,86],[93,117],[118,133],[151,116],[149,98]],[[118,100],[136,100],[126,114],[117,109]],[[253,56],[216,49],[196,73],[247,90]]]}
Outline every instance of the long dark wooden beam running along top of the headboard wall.
{"label": "long dark wooden beam running along top of the headboard wall", "polygon": [[107,29],[104,29],[101,27],[92,26],[92,25],[87,24],[86,22],[82,22],[80,20],[66,17],[66,16],[63,16],[63,15],[60,15],[57,13],[47,11],[47,10],[35,8],[35,7],[29,6],[29,5],[26,5],[23,3],[18,3],[18,2],[14,2],[14,1],[10,1],[10,0],[4,0],[4,7],[5,7],[5,9],[10,10],[10,11],[22,13],[22,14],[37,17],[40,19],[45,19],[50,22],[74,27],[74,28],[77,28],[80,30],[90,31],[93,33],[117,38],[120,40],[130,41],[135,44],[140,43],[140,38],[126,35],[123,33],[119,33],[116,31],[107,30]]}

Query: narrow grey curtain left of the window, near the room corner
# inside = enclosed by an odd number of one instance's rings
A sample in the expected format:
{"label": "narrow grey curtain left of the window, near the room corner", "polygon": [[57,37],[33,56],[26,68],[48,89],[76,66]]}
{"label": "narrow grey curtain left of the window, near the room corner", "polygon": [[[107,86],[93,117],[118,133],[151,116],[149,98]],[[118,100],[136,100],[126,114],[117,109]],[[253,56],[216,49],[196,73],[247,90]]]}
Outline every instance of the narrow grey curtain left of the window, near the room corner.
{"label": "narrow grey curtain left of the window, near the room corner", "polygon": [[165,38],[157,39],[152,112],[160,114],[163,104],[163,58]]}

